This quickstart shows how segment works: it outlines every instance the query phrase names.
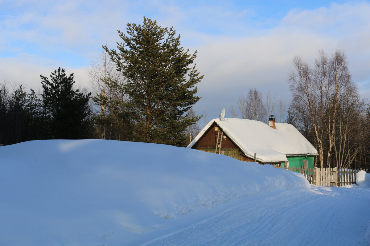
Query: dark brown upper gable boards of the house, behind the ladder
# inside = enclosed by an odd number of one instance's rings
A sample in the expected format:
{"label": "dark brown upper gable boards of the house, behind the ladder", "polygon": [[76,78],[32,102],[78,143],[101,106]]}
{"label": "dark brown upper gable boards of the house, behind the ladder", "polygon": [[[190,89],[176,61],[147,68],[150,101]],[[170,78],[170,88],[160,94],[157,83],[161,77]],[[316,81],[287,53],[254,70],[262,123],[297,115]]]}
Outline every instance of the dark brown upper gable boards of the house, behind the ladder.
{"label": "dark brown upper gable boards of the house, behind the ladder", "polygon": [[[215,127],[218,127],[215,123],[208,128],[207,132],[203,137],[195,143],[193,149],[198,148],[213,148],[216,149],[216,140],[218,132],[215,132]],[[223,136],[226,136],[223,134]],[[238,147],[226,136],[226,139],[222,139],[221,149],[238,149]]]}

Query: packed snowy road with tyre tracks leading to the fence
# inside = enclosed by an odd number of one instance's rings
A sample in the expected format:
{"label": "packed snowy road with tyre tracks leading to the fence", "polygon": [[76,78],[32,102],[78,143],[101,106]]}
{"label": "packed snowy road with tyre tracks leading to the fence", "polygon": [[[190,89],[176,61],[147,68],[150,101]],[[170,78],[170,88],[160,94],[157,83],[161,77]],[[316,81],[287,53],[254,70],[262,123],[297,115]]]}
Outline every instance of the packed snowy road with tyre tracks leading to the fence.
{"label": "packed snowy road with tyre tracks leading to the fence", "polygon": [[370,189],[316,187],[250,197],[155,245],[369,245]]}

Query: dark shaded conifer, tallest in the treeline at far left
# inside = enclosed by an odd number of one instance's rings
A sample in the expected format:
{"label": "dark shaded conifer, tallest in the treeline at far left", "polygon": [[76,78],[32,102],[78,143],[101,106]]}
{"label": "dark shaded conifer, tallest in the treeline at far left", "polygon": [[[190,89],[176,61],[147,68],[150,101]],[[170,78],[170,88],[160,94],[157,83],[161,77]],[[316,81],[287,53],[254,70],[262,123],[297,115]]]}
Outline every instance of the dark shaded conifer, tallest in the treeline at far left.
{"label": "dark shaded conifer, tallest in the treeline at far left", "polygon": [[47,77],[40,75],[44,89],[42,105],[46,117],[48,138],[82,139],[90,138],[90,109],[88,100],[91,93],[84,94],[73,89],[74,76],[67,77],[60,67]]}

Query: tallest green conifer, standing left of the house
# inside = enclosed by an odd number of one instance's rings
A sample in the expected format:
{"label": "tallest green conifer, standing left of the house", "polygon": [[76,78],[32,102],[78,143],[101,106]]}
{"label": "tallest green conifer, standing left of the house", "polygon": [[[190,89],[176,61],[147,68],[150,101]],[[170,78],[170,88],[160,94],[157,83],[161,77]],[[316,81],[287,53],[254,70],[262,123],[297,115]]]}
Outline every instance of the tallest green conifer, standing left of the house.
{"label": "tallest green conifer, standing left of the house", "polygon": [[185,129],[200,117],[186,117],[200,97],[195,85],[201,81],[194,60],[171,28],[162,28],[144,17],[142,25],[127,24],[118,31],[123,43],[118,51],[103,46],[122,73],[125,83],[110,86],[127,95],[116,103],[134,122],[134,141],[183,145]]}

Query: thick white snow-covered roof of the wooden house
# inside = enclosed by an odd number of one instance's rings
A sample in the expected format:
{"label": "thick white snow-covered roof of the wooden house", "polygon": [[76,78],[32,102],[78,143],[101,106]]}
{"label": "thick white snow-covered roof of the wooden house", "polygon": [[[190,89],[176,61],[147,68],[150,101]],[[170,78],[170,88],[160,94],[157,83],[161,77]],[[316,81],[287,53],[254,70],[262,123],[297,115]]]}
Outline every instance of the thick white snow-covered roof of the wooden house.
{"label": "thick white snow-covered roof of the wooden house", "polygon": [[213,122],[231,139],[248,157],[263,163],[287,160],[287,155],[316,155],[312,146],[293,125],[276,123],[276,129],[260,121],[250,119],[226,118],[224,121],[212,119],[187,146],[191,148]]}

